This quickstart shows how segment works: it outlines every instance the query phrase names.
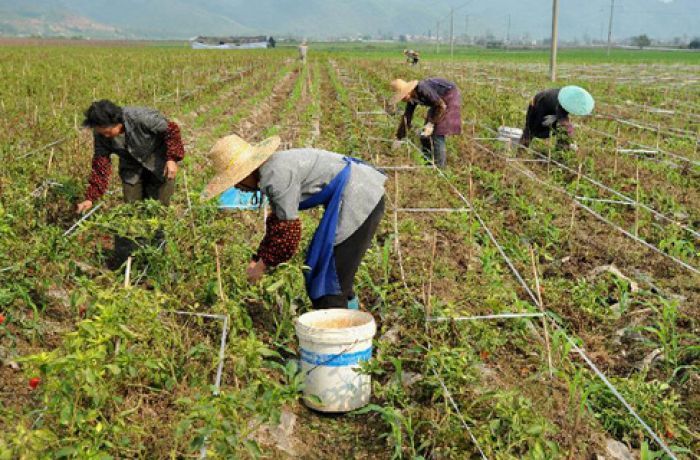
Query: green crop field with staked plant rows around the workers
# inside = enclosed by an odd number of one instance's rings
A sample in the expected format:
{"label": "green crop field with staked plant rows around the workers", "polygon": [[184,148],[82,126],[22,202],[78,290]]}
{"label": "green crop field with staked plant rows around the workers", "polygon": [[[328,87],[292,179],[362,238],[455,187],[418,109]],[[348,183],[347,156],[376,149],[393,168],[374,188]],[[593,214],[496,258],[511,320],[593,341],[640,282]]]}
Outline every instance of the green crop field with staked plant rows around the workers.
{"label": "green crop field with staked plant rows around the workers", "polygon": [[[531,53],[532,54],[532,53]],[[578,150],[522,127],[544,55],[400,50],[0,48],[0,459],[700,458],[700,55],[564,54],[596,97]],[[462,92],[448,168],[392,150],[393,78]],[[161,110],[187,156],[174,203],[118,178],[78,225],[94,99]],[[420,125],[423,109],[416,123]],[[367,408],[300,402],[303,254],[249,285],[262,212],[200,199],[218,137],[278,134],[382,166],[387,213],[358,273],[379,327]],[[308,241],[318,216],[303,216]],[[154,239],[131,274],[115,233]]]}

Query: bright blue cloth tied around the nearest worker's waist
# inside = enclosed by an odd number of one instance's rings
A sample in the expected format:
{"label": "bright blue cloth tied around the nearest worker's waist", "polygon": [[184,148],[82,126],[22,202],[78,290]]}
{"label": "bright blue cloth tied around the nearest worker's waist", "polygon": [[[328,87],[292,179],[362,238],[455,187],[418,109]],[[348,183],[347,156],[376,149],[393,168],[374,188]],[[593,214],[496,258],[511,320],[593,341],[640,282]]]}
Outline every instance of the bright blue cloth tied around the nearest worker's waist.
{"label": "bright blue cloth tied around the nearest worker's waist", "polygon": [[350,165],[362,162],[350,157],[345,157],[345,161],[345,167],[320,192],[299,203],[300,210],[319,205],[326,208],[306,252],[305,264],[310,270],[304,273],[304,278],[306,292],[312,300],[327,295],[339,295],[342,292],[335,268],[333,242],[338,227],[343,190],[350,178]]}

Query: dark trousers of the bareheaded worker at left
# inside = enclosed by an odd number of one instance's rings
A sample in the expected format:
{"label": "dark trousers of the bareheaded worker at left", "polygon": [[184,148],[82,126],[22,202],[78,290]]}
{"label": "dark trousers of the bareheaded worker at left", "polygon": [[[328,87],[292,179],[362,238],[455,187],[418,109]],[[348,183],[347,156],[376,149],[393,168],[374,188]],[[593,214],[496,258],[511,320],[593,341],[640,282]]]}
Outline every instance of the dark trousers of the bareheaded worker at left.
{"label": "dark trousers of the bareheaded worker at left", "polygon": [[[144,170],[141,178],[135,184],[122,182],[124,201],[134,203],[142,200],[158,200],[163,206],[170,204],[170,198],[175,191],[175,179],[159,181],[151,172]],[[159,232],[158,239],[162,238]],[[131,238],[115,235],[114,237],[114,259],[111,261],[113,268],[121,266],[126,259],[136,250],[139,242]]]}

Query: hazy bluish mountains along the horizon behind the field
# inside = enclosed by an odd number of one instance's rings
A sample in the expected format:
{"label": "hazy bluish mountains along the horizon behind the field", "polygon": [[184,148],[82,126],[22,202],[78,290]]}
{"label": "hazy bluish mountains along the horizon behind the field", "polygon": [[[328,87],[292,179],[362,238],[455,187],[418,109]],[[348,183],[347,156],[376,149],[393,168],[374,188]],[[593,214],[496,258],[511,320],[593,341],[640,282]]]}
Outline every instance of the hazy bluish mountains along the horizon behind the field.
{"label": "hazy bluish mountains along the horizon behind the field", "polygon": [[[0,35],[185,39],[195,35],[546,38],[551,0],[0,0]],[[610,0],[561,0],[560,37],[607,37]],[[468,15],[468,17],[467,17]],[[510,24],[510,26],[509,26]],[[700,0],[617,0],[613,36],[700,35]]]}

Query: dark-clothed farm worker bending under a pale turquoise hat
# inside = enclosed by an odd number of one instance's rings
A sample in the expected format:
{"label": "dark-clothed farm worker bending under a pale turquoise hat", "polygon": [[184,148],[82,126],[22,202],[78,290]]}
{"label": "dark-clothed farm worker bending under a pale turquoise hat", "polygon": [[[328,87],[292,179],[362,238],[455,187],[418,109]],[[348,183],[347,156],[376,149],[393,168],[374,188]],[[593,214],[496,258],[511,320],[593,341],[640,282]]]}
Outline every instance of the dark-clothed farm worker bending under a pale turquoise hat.
{"label": "dark-clothed farm worker bending under a pale turquoise hat", "polygon": [[579,86],[551,88],[537,93],[527,108],[520,145],[528,147],[533,137],[547,139],[554,132],[557,148],[575,150],[574,125],[569,114],[588,115],[594,105],[593,96]]}

